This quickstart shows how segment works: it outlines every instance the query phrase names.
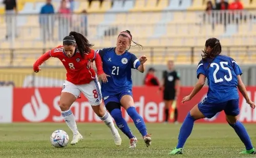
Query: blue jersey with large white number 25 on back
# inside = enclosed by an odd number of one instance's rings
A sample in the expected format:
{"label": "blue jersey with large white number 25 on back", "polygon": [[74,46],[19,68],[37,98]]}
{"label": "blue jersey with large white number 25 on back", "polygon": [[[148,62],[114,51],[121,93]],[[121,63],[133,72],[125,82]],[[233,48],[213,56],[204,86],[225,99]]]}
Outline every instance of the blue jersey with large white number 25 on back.
{"label": "blue jersey with large white number 25 on back", "polygon": [[232,58],[219,55],[213,61],[200,61],[197,77],[200,73],[208,79],[209,88],[204,101],[221,103],[239,98],[237,75],[241,75],[242,70]]}

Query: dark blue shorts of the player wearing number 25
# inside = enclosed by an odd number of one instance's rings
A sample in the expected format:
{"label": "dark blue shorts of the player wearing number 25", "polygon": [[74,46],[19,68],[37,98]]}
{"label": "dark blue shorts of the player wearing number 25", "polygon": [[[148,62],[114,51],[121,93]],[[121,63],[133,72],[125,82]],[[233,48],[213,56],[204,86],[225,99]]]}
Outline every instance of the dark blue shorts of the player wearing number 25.
{"label": "dark blue shorts of the player wearing number 25", "polygon": [[198,104],[198,109],[206,118],[212,118],[217,113],[224,110],[226,115],[239,115],[239,99],[228,100],[222,103],[207,103],[202,101]]}

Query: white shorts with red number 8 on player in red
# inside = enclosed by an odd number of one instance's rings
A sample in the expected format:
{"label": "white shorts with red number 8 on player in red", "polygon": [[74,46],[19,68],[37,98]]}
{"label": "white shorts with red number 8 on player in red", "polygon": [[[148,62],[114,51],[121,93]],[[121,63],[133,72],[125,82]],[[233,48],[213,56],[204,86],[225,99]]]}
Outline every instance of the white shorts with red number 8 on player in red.
{"label": "white shorts with red number 8 on player in red", "polygon": [[74,85],[71,82],[65,81],[63,83],[61,92],[71,93],[76,98],[82,92],[92,106],[98,106],[102,102],[102,95],[101,95],[100,88],[101,86],[96,79],[91,81],[89,84],[84,84],[84,85]]}

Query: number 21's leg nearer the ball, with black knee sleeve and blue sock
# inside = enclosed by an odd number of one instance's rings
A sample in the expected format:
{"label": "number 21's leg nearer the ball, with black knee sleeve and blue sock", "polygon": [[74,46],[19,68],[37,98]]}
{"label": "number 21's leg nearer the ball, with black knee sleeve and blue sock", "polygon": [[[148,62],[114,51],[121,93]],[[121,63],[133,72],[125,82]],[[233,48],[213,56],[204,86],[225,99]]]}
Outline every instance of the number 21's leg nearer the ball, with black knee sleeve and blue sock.
{"label": "number 21's leg nearer the ball, with black knee sleeve and blue sock", "polygon": [[122,117],[121,104],[117,97],[110,96],[105,100],[105,107],[114,118],[117,127],[130,139],[129,148],[136,148],[137,138],[133,135],[127,122]]}

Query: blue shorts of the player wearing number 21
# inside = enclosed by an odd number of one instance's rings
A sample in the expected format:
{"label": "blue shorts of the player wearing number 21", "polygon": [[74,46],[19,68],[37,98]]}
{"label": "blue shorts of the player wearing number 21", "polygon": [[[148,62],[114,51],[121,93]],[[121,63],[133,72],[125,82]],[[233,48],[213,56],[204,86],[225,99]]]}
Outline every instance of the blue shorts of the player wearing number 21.
{"label": "blue shorts of the player wearing number 21", "polygon": [[[103,94],[104,95],[104,94]],[[129,89],[124,89],[115,95],[103,96],[104,104],[106,105],[110,101],[114,101],[120,103],[122,96],[124,95],[131,95],[133,97],[133,93]]]}

